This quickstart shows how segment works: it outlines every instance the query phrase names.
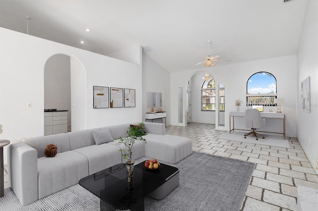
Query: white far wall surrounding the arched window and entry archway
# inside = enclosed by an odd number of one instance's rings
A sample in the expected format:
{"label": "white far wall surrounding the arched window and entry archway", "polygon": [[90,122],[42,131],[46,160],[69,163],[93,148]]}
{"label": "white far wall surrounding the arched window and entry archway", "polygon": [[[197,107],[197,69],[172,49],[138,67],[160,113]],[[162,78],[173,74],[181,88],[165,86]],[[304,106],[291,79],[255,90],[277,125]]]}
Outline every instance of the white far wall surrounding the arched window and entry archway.
{"label": "white far wall surrounding the arched window and entry archway", "polygon": [[[282,105],[282,111],[286,115],[286,135],[289,137],[296,137],[296,102],[295,94],[297,88],[296,83],[296,69],[297,69],[297,57],[296,55],[275,57],[269,59],[262,59],[249,62],[241,62],[229,65],[219,65],[214,67],[206,67],[196,70],[188,70],[181,72],[171,73],[171,125],[180,125],[177,123],[177,90],[178,87],[186,87],[186,82],[196,73],[200,73],[201,76],[195,76],[197,85],[202,85],[202,77],[205,71],[208,71],[210,76],[213,76],[216,84],[225,84],[226,88],[226,106],[225,106],[225,130],[229,130],[229,112],[237,109],[235,106],[235,100],[240,99],[243,105],[246,105],[246,82],[247,79],[254,73],[265,71],[272,73],[277,80],[277,96],[278,98],[284,98],[285,103]],[[288,76],[288,77],[287,77]],[[192,82],[191,88],[194,90],[195,82]],[[196,95],[199,92],[196,92]],[[192,95],[192,99],[198,98],[195,94]],[[194,109],[194,104],[197,103],[197,109]],[[210,119],[208,117],[202,117],[206,112],[201,111],[201,101],[192,102],[192,118],[198,121],[204,122]],[[185,107],[185,106],[184,106]],[[246,109],[246,106],[241,106],[241,110]],[[203,113],[203,114],[202,114]],[[211,118],[213,114],[210,114]],[[199,116],[197,118],[197,116]],[[202,119],[203,118],[203,119]],[[202,121],[203,120],[203,121]],[[193,120],[194,121],[194,120]],[[211,120],[212,122],[212,120]],[[214,122],[215,123],[215,122]]]}

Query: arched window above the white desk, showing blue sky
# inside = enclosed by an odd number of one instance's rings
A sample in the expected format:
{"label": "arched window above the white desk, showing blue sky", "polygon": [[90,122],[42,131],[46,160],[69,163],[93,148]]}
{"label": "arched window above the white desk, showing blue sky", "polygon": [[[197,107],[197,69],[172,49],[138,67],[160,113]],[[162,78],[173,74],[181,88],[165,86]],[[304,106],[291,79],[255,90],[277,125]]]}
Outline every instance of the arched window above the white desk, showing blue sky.
{"label": "arched window above the white desk, showing blue sky", "polygon": [[246,106],[275,106],[276,78],[269,72],[257,72],[246,82]]}

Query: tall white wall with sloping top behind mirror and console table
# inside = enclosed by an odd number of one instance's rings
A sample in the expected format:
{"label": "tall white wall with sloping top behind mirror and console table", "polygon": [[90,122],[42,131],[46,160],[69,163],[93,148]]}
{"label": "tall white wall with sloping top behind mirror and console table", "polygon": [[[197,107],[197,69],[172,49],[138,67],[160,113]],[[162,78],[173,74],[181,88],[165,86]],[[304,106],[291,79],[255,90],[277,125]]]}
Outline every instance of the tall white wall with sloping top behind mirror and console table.
{"label": "tall white wall with sloping top behind mirror and console table", "polygon": [[[143,120],[145,113],[150,112],[147,108],[147,92],[162,93],[162,109],[166,111],[166,125],[170,125],[170,72],[165,70],[157,62],[143,53]],[[163,120],[164,121],[164,120]],[[155,120],[160,122],[161,120]]]}

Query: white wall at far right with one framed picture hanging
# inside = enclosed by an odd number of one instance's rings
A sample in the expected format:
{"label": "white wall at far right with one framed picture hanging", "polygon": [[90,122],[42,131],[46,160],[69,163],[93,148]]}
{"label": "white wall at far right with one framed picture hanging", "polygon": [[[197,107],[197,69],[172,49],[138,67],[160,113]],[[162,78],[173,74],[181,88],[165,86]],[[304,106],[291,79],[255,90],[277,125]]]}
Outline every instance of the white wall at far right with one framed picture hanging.
{"label": "white wall at far right with one framed picture hanging", "polygon": [[[297,138],[318,166],[318,1],[308,1],[297,54]],[[310,77],[311,112],[302,110],[301,83]],[[317,169],[316,172],[318,173]]]}

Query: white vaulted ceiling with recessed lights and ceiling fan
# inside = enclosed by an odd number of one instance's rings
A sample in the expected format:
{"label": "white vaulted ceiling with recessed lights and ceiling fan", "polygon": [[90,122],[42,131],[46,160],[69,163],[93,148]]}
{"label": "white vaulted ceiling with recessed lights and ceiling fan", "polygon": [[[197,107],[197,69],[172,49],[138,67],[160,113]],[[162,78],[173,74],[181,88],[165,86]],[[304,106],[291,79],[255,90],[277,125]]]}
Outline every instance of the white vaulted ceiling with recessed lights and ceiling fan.
{"label": "white vaulted ceiling with recessed lights and ceiling fan", "polygon": [[[0,26],[107,55],[140,44],[170,72],[297,53],[307,0],[0,0]],[[91,31],[86,32],[89,28]],[[80,41],[84,44],[80,44]],[[210,67],[213,68],[213,67]]]}

